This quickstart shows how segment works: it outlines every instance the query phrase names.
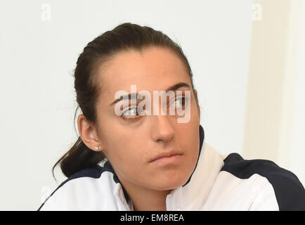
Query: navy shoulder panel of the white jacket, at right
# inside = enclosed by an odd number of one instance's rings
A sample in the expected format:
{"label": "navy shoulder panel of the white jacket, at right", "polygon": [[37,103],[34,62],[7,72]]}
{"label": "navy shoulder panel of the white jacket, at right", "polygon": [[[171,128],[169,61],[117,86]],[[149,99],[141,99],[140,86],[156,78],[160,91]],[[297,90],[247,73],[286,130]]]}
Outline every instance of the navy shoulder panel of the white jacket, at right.
{"label": "navy shoulder panel of the white jacket, at right", "polygon": [[297,176],[270,160],[244,160],[238,153],[229,154],[221,171],[238,179],[263,176],[271,184],[279,210],[305,210],[305,189]]}

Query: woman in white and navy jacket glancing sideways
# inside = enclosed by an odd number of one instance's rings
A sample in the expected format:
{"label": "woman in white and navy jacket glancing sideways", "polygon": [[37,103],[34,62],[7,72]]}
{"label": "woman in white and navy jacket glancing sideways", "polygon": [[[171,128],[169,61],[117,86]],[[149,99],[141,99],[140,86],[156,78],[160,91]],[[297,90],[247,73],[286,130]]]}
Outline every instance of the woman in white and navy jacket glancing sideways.
{"label": "woman in white and navy jacket glancing sideways", "polygon": [[[68,179],[39,210],[305,210],[292,172],[204,142],[190,65],[162,32],[123,23],[101,34],[74,77],[80,136],[56,162]],[[174,95],[159,110],[154,91]]]}

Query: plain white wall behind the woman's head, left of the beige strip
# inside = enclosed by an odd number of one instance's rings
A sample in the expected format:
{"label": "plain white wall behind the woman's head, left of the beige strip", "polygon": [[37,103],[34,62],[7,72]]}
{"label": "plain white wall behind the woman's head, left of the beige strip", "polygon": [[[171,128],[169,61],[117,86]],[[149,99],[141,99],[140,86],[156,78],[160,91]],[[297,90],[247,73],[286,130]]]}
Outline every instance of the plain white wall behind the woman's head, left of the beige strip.
{"label": "plain white wall behind the woman's head, left of the beige strip", "polygon": [[72,70],[89,41],[124,22],[181,44],[207,143],[242,154],[251,0],[1,1],[0,210],[37,210],[65,179],[51,167],[77,140]]}

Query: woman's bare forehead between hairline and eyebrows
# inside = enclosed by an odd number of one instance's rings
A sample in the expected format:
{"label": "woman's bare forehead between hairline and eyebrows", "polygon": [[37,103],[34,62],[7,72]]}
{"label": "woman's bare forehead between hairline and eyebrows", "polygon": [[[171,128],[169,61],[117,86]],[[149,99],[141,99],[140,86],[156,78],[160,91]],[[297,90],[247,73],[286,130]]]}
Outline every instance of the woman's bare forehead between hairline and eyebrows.
{"label": "woman's bare forehead between hairline and eyebrows", "polygon": [[190,84],[190,77],[183,61],[169,49],[149,47],[142,53],[134,50],[117,53],[98,72],[103,99],[111,101],[115,92],[130,93],[131,84],[137,91],[165,90],[178,82]]}

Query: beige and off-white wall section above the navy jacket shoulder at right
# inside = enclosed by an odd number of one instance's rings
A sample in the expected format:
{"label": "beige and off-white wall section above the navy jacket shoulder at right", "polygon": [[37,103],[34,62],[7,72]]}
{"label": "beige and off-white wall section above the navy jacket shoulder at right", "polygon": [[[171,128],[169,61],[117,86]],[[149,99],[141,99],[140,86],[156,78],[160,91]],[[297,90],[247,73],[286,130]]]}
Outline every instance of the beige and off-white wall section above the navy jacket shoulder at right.
{"label": "beige and off-white wall section above the navy jacket shoulder at right", "polygon": [[305,3],[254,3],[262,18],[252,24],[242,155],[273,160],[305,184]]}

